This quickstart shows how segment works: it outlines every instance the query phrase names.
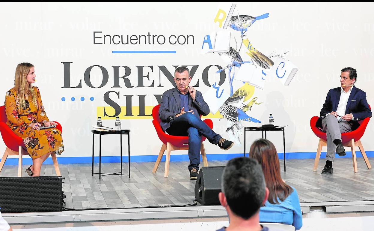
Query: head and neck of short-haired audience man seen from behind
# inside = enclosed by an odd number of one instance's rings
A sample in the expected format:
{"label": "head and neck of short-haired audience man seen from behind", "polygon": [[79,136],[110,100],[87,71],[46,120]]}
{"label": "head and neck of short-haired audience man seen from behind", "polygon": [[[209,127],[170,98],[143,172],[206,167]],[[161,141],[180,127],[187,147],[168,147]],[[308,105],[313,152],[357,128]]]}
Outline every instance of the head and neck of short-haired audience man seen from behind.
{"label": "head and neck of short-haired audience man seen from behind", "polygon": [[238,157],[227,162],[221,189],[218,199],[226,208],[230,225],[217,231],[268,231],[260,225],[259,213],[269,189],[261,165],[255,159]]}

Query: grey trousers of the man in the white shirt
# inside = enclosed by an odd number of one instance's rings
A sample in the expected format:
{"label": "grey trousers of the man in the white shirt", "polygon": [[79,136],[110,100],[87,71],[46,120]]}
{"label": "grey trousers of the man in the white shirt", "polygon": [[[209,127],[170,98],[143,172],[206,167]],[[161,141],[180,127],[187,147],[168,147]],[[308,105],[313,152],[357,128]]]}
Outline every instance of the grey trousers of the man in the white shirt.
{"label": "grey trousers of the man in the white shirt", "polygon": [[322,128],[326,132],[327,153],[326,160],[334,161],[336,145],[335,139],[341,140],[341,133],[352,131],[352,126],[344,119],[337,119],[334,115],[328,114],[322,119]]}

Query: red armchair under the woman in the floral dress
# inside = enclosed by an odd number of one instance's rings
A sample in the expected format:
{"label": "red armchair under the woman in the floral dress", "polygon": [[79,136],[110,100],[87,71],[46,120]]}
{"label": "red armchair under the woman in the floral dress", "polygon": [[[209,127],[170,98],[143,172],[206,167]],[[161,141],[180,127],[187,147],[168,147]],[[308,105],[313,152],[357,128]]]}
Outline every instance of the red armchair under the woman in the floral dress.
{"label": "red armchair under the woman in the floral dress", "polygon": [[[5,106],[1,106],[0,107],[0,132],[1,132],[1,137],[3,137],[3,141],[7,148],[5,149],[3,158],[1,158],[1,161],[0,161],[0,172],[3,169],[3,166],[8,156],[18,155],[18,176],[22,176],[22,155],[28,155],[26,151],[26,146],[22,138],[17,136],[15,133],[13,133],[13,131],[8,127],[8,125],[6,125],[6,121],[7,121],[7,118],[6,118],[6,113],[5,113]],[[58,122],[56,123],[57,123],[56,128],[60,130],[62,133],[61,124],[59,124]],[[61,176],[60,169],[58,167],[56,154],[52,152],[51,157],[53,160],[53,165],[55,166],[56,175]]]}

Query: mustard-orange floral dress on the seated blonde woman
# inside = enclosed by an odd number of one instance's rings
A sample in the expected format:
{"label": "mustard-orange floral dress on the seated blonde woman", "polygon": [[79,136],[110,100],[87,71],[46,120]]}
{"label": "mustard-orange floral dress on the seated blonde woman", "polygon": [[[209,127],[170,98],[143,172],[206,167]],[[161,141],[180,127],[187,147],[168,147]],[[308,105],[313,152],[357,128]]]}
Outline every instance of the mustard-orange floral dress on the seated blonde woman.
{"label": "mustard-orange floral dress on the seated blonde woman", "polygon": [[15,88],[6,92],[5,112],[8,119],[6,124],[17,136],[22,137],[31,158],[38,158],[51,151],[61,154],[64,151],[64,145],[62,144],[61,132],[58,129],[46,128],[35,130],[28,127],[28,125],[35,122],[39,122],[41,125],[49,122],[44,111],[39,88],[36,86],[33,86],[33,88],[36,92],[38,105],[34,105],[31,96],[29,96],[25,100],[26,108],[20,108],[20,99],[16,95]]}

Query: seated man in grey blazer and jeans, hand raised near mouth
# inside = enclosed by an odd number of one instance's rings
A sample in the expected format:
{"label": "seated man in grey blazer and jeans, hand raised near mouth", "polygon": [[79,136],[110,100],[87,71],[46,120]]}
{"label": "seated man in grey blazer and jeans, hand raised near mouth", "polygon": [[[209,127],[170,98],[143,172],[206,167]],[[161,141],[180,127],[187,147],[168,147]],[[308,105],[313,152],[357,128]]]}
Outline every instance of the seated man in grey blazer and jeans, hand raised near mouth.
{"label": "seated man in grey blazer and jeans, hand raised near mouth", "polygon": [[200,119],[200,114],[209,114],[209,106],[201,92],[189,86],[190,71],[186,67],[178,67],[174,72],[174,81],[176,87],[162,95],[159,109],[161,127],[172,136],[188,136],[188,170],[190,180],[196,180],[200,164],[201,135],[224,150],[231,148],[234,143],[223,139]]}

